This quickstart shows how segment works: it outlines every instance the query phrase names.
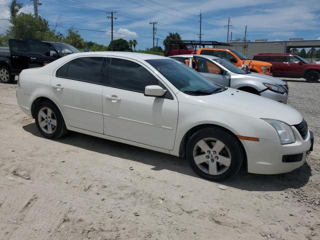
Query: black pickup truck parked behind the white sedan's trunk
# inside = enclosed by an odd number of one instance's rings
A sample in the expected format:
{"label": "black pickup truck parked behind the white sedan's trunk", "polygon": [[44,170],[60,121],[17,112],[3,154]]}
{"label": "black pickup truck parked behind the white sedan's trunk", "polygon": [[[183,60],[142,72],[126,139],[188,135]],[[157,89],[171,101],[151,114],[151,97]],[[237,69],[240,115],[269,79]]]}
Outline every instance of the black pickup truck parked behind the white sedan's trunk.
{"label": "black pickup truck parked behind the white sedan's trunk", "polygon": [[21,70],[40,67],[62,56],[80,52],[75,47],[52,41],[9,39],[10,52],[0,52],[0,81],[10,83]]}

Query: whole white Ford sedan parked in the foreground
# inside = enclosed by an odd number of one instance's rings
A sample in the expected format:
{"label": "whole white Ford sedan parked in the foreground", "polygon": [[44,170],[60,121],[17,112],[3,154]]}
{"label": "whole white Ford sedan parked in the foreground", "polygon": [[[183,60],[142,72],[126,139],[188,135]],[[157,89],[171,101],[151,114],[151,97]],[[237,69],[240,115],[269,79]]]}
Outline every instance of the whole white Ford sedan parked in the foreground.
{"label": "whole white Ford sedan parked in the foreground", "polygon": [[75,53],[19,75],[20,108],[44,137],[67,130],[185,156],[210,180],[303,164],[313,135],[290,106],[222,87],[176,60]]}

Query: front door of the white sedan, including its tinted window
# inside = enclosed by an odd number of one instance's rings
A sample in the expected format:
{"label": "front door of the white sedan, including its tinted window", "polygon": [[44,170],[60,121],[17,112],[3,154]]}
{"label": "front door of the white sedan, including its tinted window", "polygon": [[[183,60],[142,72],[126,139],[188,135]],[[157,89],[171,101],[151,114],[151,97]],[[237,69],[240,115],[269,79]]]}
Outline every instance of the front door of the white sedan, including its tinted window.
{"label": "front door of the white sedan, including its tinted window", "polygon": [[[133,59],[109,58],[102,90],[104,134],[163,149],[173,149],[178,102],[159,78]],[[164,97],[145,96],[144,87],[160,85]]]}

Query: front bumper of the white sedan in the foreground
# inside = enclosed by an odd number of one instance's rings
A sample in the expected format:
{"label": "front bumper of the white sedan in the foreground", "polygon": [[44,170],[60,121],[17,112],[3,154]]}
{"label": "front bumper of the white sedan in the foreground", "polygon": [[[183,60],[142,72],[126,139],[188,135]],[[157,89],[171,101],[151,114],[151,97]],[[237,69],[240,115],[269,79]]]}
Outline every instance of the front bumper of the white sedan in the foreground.
{"label": "front bumper of the white sedan in the foreground", "polygon": [[292,127],[296,141],[282,145],[279,140],[241,140],[247,157],[247,170],[251,173],[277,174],[294,170],[305,162],[312,150],[313,134],[308,131],[305,139]]}

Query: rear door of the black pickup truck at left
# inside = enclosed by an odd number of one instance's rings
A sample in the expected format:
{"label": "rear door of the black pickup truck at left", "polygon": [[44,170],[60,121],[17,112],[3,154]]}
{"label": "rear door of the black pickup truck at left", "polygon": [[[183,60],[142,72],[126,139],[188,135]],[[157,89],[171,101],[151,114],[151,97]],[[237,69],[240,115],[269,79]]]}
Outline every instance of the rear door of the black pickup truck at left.
{"label": "rear door of the black pickup truck at left", "polygon": [[11,71],[20,72],[29,67],[28,46],[25,41],[9,39]]}

